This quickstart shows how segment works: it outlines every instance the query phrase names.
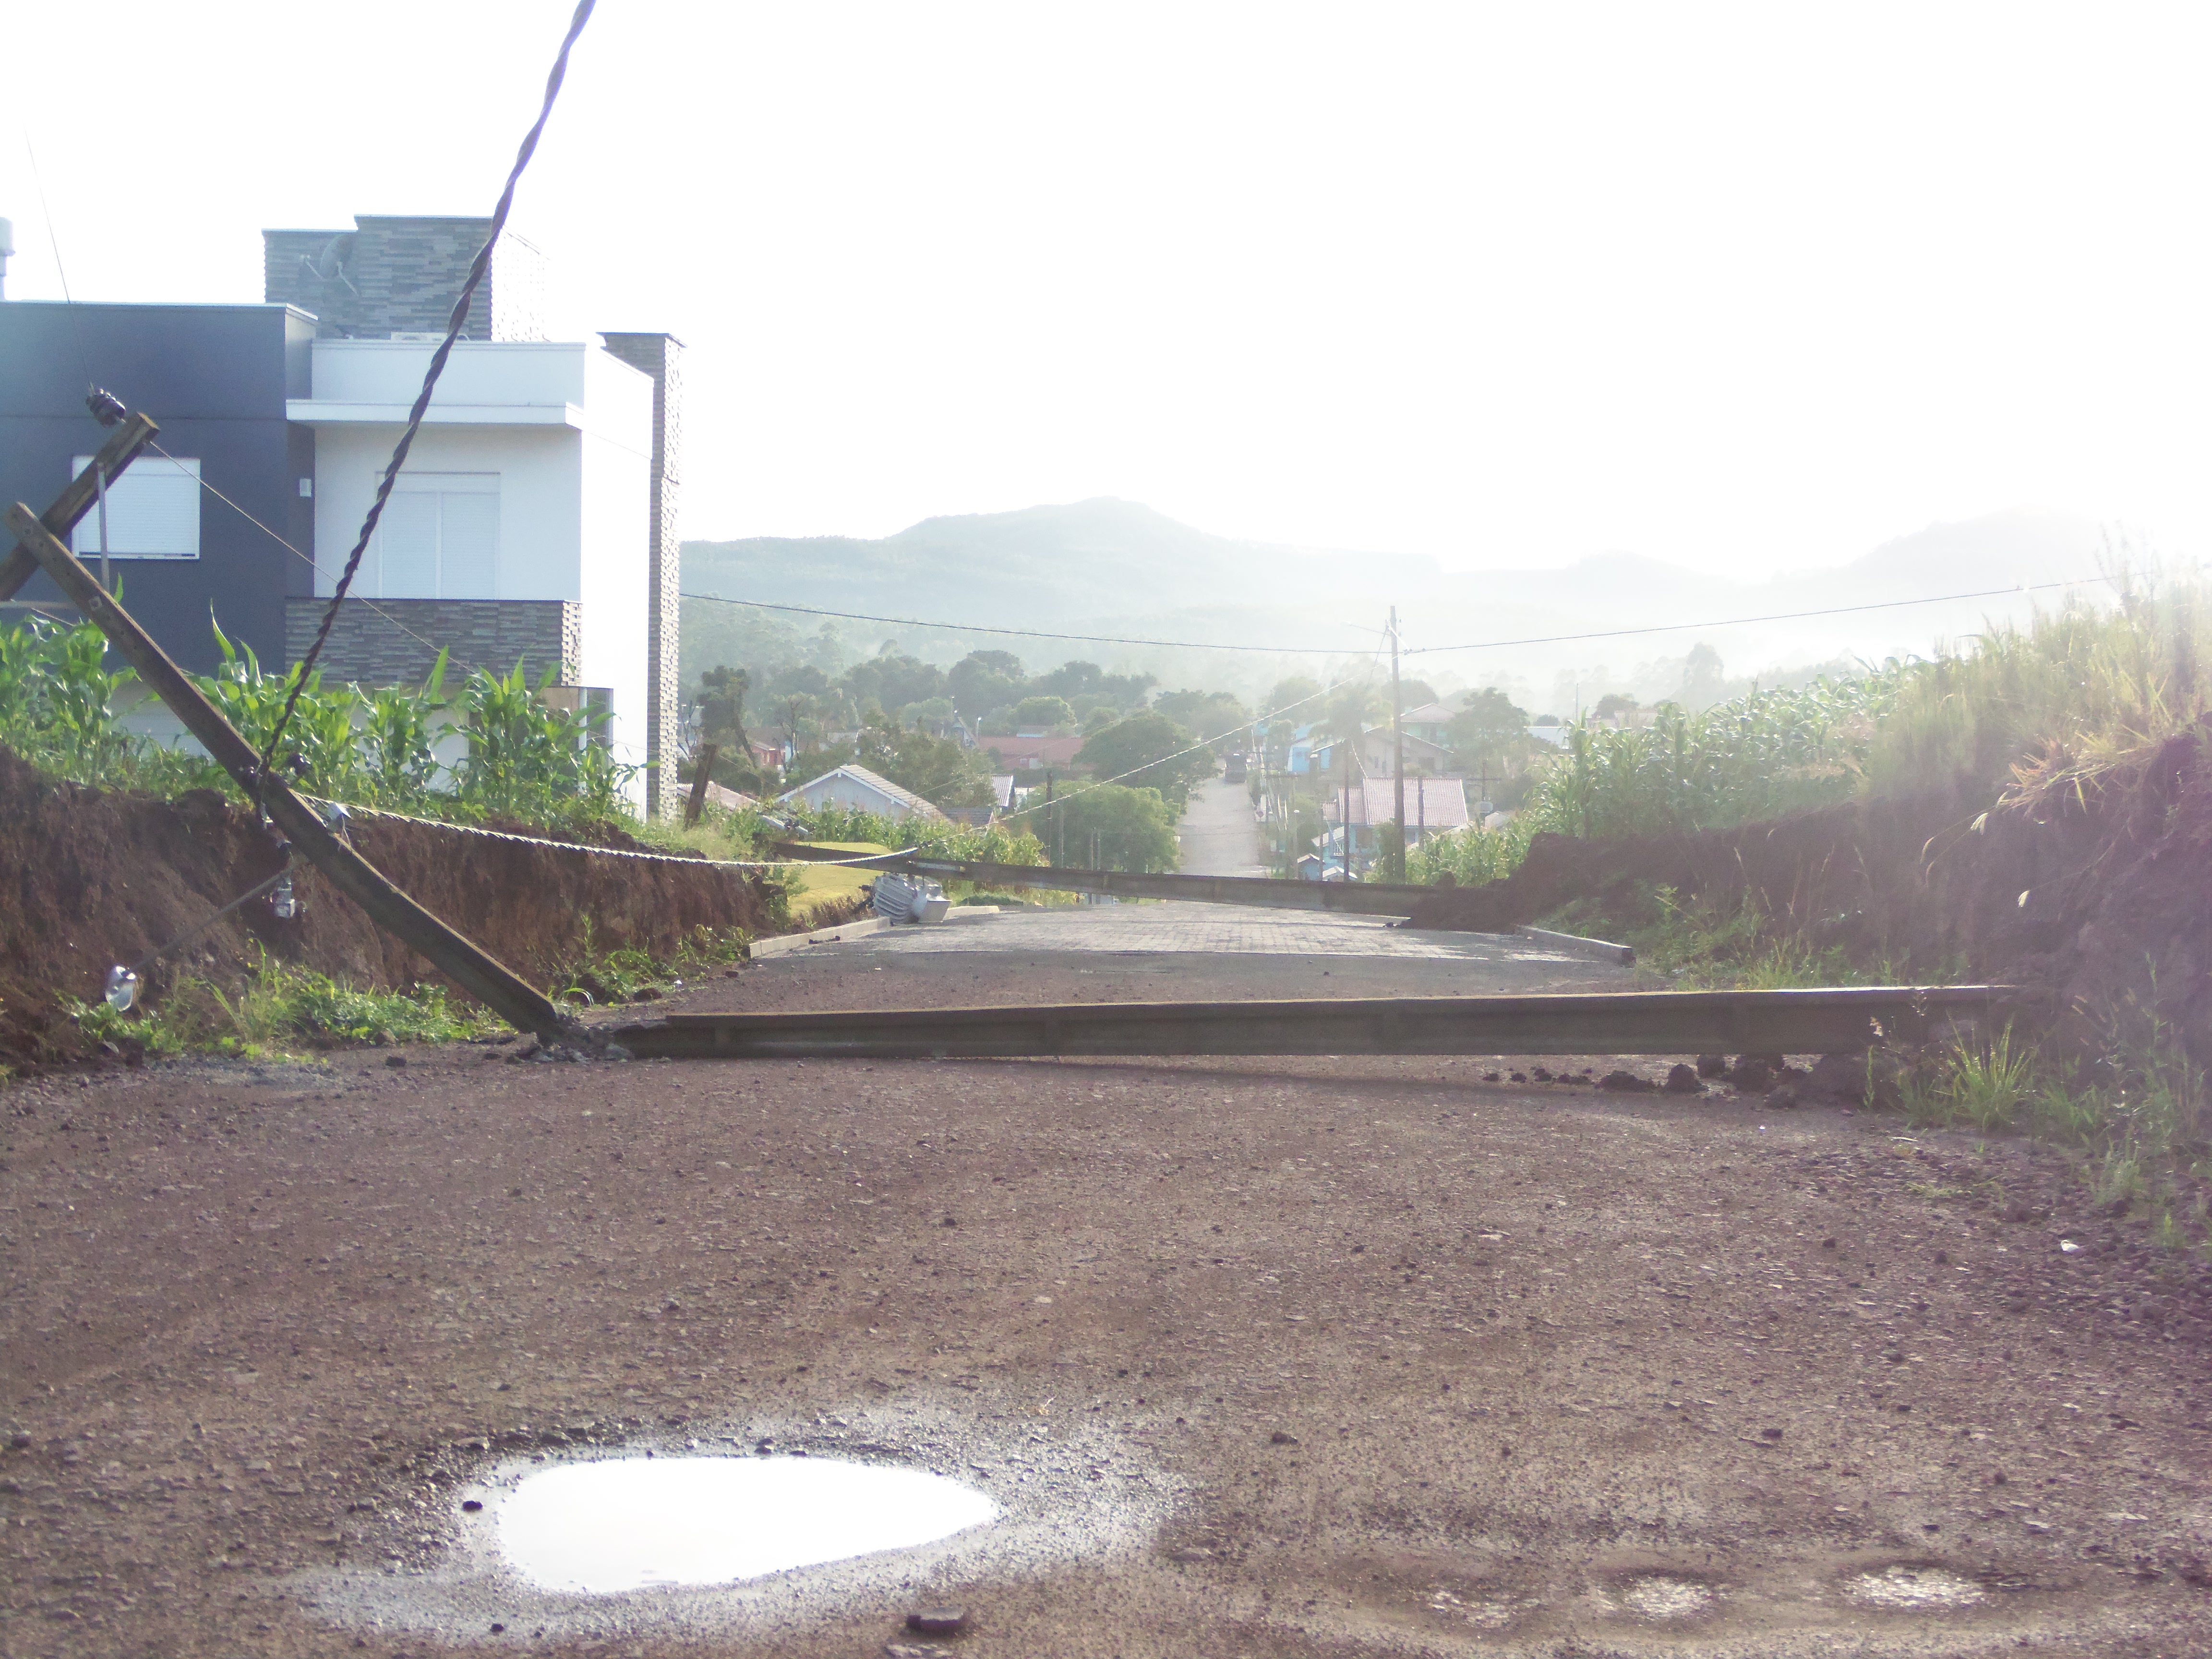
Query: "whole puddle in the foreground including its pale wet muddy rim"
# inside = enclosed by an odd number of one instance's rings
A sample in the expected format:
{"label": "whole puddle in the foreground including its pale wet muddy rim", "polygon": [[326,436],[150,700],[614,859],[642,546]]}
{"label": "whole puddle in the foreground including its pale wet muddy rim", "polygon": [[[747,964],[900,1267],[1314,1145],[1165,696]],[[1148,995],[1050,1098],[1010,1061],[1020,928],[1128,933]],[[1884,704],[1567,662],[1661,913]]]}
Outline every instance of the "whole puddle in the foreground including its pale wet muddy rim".
{"label": "whole puddle in the foreground including its pale wet muddy rim", "polygon": [[[874,1407],[487,1460],[440,1533],[294,1579],[356,1632],[739,1637],[1150,1546],[1183,1484],[1104,1427]],[[376,1555],[385,1559],[378,1564]],[[1108,1568],[1117,1571],[1117,1568]]]}

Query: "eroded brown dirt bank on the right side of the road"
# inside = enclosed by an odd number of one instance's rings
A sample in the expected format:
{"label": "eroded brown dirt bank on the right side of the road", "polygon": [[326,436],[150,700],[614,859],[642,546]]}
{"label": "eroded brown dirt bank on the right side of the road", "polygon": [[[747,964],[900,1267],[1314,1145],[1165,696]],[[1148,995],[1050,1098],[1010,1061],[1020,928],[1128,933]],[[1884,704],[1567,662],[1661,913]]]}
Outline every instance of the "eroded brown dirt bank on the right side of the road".
{"label": "eroded brown dirt bank on the right side of the road", "polygon": [[1719,914],[1747,898],[1770,933],[1865,967],[2020,984],[2031,1015],[2084,1046],[2132,1000],[2212,1060],[2212,765],[2197,737],[2141,776],[2028,810],[1949,787],[1736,830],[1537,836],[1513,876],[1438,894],[1413,927],[1506,931],[1575,900],[1635,914],[1639,885]]}

